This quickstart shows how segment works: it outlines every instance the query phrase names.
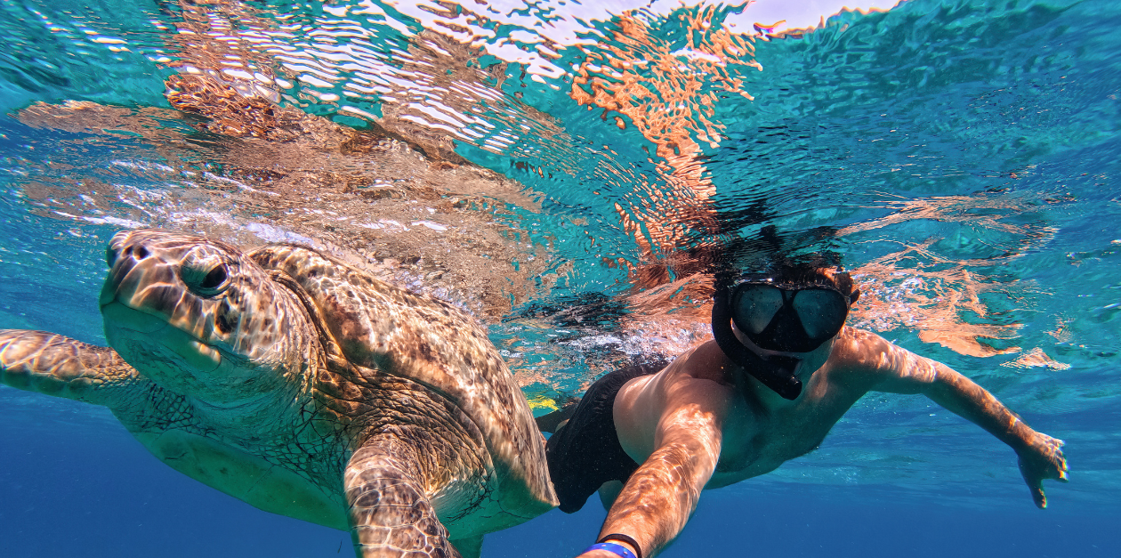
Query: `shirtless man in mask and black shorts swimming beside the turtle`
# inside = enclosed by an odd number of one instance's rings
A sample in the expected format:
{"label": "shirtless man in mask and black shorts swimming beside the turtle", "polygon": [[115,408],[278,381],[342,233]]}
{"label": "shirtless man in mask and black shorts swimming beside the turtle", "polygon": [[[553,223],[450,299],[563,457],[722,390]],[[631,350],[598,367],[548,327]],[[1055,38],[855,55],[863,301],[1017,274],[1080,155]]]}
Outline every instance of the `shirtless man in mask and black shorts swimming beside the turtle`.
{"label": "shirtless man in mask and black shorts swimming beside the turtle", "polygon": [[610,506],[581,558],[649,558],[696,509],[702,489],[773,471],[821,445],[869,391],[921,393],[1008,444],[1039,508],[1044,478],[1066,481],[1062,440],[1025,425],[945,364],[846,327],[860,291],[847,273],[784,264],[716,288],[714,341],[666,366],[597,380],[547,444],[560,510],[599,491]]}

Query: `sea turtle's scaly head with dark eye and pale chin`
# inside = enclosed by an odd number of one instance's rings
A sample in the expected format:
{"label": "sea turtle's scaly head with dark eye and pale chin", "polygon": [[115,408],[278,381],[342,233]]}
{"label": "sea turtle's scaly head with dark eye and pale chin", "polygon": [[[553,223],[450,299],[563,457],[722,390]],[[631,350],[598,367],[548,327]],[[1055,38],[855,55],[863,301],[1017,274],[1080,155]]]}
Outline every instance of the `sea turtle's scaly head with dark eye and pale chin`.
{"label": "sea turtle's scaly head with dark eye and pale chin", "polygon": [[238,407],[307,369],[307,315],[237,248],[166,231],[124,231],[106,250],[105,337],[129,364],[195,400]]}

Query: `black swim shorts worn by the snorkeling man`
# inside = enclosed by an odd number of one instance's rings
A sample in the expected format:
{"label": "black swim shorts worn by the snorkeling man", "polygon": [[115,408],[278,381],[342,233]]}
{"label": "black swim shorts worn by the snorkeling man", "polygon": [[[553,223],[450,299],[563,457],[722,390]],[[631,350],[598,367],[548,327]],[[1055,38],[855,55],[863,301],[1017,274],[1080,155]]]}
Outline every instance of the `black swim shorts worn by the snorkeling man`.
{"label": "black swim shorts worn by the snorkeling man", "polygon": [[660,372],[665,362],[628,366],[600,378],[580,400],[568,424],[546,445],[549,476],[560,511],[575,513],[608,481],[630,478],[638,468],[619,444],[612,408],[623,384]]}

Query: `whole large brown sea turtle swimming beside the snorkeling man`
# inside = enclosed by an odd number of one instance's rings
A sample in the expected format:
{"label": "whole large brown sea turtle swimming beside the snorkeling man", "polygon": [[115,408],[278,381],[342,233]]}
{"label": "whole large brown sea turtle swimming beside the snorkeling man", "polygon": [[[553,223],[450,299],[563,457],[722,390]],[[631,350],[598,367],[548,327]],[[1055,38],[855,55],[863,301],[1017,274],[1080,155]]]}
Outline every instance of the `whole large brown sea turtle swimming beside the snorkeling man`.
{"label": "whole large brown sea turtle swimming beside the snorkeling man", "polygon": [[455,307],[287,244],[122,232],[109,266],[113,348],[0,331],[2,383],[109,407],[175,469],[362,557],[478,556],[556,505],[521,391]]}

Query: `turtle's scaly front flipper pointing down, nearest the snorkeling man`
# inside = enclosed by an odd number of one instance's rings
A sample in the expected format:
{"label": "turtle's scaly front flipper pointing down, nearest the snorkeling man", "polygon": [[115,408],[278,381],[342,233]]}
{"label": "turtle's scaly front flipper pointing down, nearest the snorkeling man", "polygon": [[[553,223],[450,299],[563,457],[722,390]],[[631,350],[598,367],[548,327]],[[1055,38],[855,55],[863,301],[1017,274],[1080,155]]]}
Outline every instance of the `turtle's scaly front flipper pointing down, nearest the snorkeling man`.
{"label": "turtle's scaly front flipper pointing down, nearest the snorkeling man", "polygon": [[361,558],[460,558],[425,494],[413,445],[379,435],[362,445],[343,475],[351,539]]}

